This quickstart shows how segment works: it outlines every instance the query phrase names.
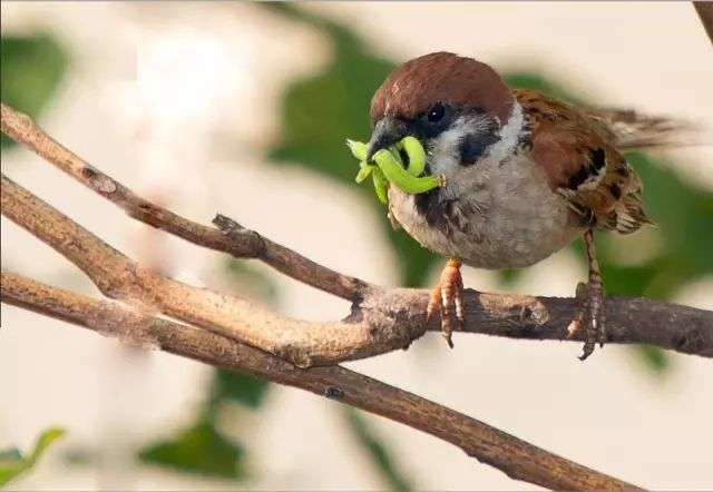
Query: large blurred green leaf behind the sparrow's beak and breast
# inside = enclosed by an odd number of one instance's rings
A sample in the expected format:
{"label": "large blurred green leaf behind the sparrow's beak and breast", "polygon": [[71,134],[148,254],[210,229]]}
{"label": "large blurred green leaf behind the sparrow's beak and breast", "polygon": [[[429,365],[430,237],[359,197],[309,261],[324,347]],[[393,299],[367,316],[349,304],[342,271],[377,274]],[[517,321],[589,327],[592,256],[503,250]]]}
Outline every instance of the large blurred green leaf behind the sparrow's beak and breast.
{"label": "large blurred green leaf behind the sparrow's beak and breast", "polygon": [[282,101],[282,140],[270,158],[306,167],[363,193],[384,216],[382,227],[399,258],[401,283],[422,285],[438,257],[403,230],[393,230],[373,191],[354,186],[358,167],[344,144],[346,138],[368,138],[371,96],[394,63],[374,55],[353,31],[334,21],[290,3],[263,6],[319,29],[334,49],[331,62],[320,73],[287,87]]}

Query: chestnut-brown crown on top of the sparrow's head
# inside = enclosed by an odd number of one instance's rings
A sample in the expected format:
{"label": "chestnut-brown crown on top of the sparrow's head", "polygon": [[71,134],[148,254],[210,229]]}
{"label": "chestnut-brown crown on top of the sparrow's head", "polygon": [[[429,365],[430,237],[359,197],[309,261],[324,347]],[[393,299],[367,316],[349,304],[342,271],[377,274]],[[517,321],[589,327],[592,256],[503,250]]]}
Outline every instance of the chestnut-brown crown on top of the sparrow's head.
{"label": "chestnut-brown crown on top of the sparrow's head", "polygon": [[371,99],[371,122],[383,116],[413,118],[433,104],[482,108],[507,121],[512,95],[486,63],[449,52],[424,55],[393,70]]}

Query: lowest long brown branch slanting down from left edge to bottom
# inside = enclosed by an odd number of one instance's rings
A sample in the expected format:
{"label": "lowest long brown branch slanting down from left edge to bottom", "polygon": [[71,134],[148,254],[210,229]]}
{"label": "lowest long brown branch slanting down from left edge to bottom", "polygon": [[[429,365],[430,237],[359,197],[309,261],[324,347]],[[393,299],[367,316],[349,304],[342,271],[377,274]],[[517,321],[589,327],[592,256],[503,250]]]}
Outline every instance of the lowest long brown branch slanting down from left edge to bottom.
{"label": "lowest long brown branch slanting down from left edge to bottom", "polygon": [[221,335],[159,319],[118,303],[95,301],[2,273],[1,299],[37,313],[173,354],[247,372],[339,400],[427,432],[468,455],[555,490],[623,490],[634,485],[538,449],[461,413],[339,366],[300,370]]}

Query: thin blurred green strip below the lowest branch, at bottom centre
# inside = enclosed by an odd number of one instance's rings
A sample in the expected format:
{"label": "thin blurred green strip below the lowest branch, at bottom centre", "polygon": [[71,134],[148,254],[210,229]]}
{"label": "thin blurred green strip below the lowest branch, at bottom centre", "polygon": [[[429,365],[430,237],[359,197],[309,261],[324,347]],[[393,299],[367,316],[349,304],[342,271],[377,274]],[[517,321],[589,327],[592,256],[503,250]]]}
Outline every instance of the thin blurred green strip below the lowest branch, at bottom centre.
{"label": "thin blurred green strip below the lowest branch, at bottom centre", "polygon": [[359,411],[344,406],[343,412],[346,416],[346,422],[349,423],[349,429],[352,431],[353,436],[369,452],[369,456],[379,471],[379,474],[387,483],[388,489],[391,491],[412,490],[413,488],[411,483],[399,470],[383,440],[379,437],[373,429],[370,427],[369,423],[359,413]]}

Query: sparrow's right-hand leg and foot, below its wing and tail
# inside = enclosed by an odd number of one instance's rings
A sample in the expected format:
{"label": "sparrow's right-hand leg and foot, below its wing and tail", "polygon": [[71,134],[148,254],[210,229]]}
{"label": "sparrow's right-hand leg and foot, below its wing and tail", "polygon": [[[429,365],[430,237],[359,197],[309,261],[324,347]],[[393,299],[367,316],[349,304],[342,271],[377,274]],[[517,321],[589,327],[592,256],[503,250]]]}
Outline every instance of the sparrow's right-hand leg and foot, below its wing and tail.
{"label": "sparrow's right-hand leg and foot, below its wing and tail", "polygon": [[604,346],[606,334],[604,331],[604,314],[602,306],[604,305],[604,291],[602,286],[602,274],[599,273],[599,263],[597,262],[596,250],[594,248],[594,233],[587,229],[584,233],[584,245],[587,253],[587,265],[589,267],[589,279],[586,285],[586,292],[577,288],[577,298],[579,298],[579,308],[577,316],[569,323],[569,336],[574,336],[582,325],[586,322],[586,337],[584,351],[579,356],[580,361],[587,358],[594,352],[597,342],[599,346]]}

